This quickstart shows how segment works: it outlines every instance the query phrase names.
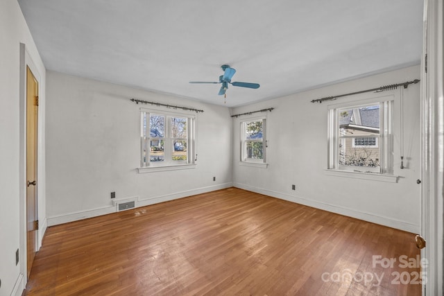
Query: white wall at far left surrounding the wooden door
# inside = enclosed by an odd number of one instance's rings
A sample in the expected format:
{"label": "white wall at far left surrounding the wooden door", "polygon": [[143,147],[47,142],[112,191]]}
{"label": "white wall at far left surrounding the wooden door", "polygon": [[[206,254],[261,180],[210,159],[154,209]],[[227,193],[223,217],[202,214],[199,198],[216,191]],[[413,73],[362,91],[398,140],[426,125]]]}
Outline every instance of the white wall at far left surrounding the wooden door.
{"label": "white wall at far left surrounding the wooden door", "polygon": [[[25,44],[28,58],[35,64],[40,76],[39,110],[39,185],[38,199],[42,206],[39,218],[44,221],[44,85],[45,69],[22,10],[16,0],[0,2],[0,295],[22,295],[26,277],[26,245],[24,244],[24,186],[22,180],[24,159],[20,147],[24,134],[20,126],[24,112],[20,109],[20,43]],[[23,150],[22,150],[23,152]],[[22,158],[21,158],[22,157]],[[42,225],[43,226],[43,225]],[[44,227],[40,230],[40,239]],[[20,261],[15,265],[15,251]],[[24,275],[23,275],[24,272]],[[24,276],[24,277],[23,277]]]}

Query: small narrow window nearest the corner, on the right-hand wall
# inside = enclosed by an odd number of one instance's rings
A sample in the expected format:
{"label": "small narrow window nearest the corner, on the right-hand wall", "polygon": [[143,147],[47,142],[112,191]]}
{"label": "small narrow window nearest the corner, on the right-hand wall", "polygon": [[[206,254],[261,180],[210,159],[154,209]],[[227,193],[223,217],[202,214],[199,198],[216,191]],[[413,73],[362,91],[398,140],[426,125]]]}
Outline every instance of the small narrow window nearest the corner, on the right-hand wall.
{"label": "small narrow window nearest the corner, on the right-hand wall", "polygon": [[241,162],[265,163],[265,119],[241,121]]}

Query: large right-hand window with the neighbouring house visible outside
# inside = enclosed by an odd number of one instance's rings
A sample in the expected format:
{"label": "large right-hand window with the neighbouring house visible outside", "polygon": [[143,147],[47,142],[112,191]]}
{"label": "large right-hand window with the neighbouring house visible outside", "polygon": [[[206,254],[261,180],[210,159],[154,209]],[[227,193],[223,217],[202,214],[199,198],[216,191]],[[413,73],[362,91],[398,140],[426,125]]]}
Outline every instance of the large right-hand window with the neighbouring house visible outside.
{"label": "large right-hand window with the neighbouring house visible outside", "polygon": [[393,174],[393,104],[384,96],[330,106],[328,168]]}

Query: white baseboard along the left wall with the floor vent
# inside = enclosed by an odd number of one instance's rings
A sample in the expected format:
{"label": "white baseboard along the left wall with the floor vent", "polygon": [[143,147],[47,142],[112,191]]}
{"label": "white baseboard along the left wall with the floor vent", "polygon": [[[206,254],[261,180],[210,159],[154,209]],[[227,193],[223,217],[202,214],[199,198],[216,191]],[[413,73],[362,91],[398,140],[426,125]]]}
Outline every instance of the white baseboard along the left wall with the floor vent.
{"label": "white baseboard along the left wall with the floor vent", "polygon": [[[212,186],[206,186],[201,187],[199,189],[191,189],[187,191],[180,191],[176,193],[166,194],[166,195],[160,195],[155,196],[152,198],[139,198],[139,197],[130,197],[130,198],[123,198],[122,201],[125,200],[135,200],[135,207],[144,207],[150,204],[157,204],[159,202],[167,202],[169,200],[177,200],[178,198],[185,198],[190,195],[196,195],[200,193],[215,191],[219,189],[225,189],[233,186],[232,182],[223,183],[223,184],[216,184]],[[114,203],[119,200],[115,200]],[[112,214],[116,212],[116,206],[113,204],[110,204],[109,206],[97,208],[97,209],[88,209],[85,211],[76,211],[68,214],[62,214],[58,216],[52,216],[47,218],[47,226],[53,226],[53,225],[59,225],[63,223],[69,223],[76,220],[83,220],[86,218],[92,218],[96,216],[102,216],[106,214]]]}

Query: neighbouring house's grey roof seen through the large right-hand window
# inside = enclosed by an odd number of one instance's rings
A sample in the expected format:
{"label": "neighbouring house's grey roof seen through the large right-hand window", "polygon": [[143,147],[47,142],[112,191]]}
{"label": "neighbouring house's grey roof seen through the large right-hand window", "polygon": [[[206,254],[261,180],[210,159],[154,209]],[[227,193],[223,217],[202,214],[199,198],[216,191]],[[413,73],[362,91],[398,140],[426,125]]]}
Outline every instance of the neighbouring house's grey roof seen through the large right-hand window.
{"label": "neighbouring house's grey roof seen through the large right-hand window", "polygon": [[379,132],[379,107],[350,109],[339,116],[341,128]]}

